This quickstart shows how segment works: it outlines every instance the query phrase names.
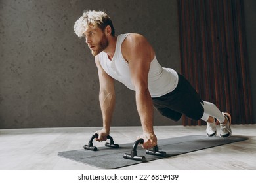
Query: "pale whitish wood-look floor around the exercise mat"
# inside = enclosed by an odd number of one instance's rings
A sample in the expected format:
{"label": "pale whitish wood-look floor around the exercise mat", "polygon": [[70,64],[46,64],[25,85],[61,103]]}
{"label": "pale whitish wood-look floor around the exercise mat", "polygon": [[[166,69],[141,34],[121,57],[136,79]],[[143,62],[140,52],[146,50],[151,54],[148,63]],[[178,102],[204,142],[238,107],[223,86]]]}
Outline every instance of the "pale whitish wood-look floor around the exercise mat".
{"label": "pale whitish wood-look floor around the exercise mat", "polygon": [[[217,126],[219,129],[219,126]],[[100,127],[0,129],[1,170],[83,170],[97,169],[58,157],[58,152],[82,149]],[[205,126],[154,127],[158,139],[184,135],[205,135]],[[140,163],[121,169],[177,169],[177,170],[255,170],[256,125],[232,125],[232,135],[249,140],[217,146],[188,154]],[[117,144],[134,142],[141,127],[112,127],[111,136]],[[104,146],[104,142],[95,142]]]}

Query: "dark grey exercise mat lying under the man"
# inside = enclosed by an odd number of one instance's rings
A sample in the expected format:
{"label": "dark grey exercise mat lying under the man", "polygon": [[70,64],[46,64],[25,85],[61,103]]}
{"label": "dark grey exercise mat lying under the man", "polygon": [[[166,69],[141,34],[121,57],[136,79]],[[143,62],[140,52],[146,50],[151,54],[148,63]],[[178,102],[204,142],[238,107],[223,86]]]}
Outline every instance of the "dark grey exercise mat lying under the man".
{"label": "dark grey exercise mat lying under the man", "polygon": [[[224,144],[230,144],[233,142],[247,140],[247,137],[232,136],[229,138],[221,137],[205,137],[203,135],[188,135],[182,137],[174,137],[169,139],[158,140],[158,147],[160,151],[165,151],[167,156],[153,156],[146,154],[146,150],[141,146],[137,147],[138,156],[145,156],[146,161],[152,161],[161,158],[167,158],[170,156],[176,156],[196,150],[202,150],[205,148],[212,148],[215,146],[221,146]],[[85,143],[87,144],[87,143]],[[104,143],[102,143],[104,144]],[[83,145],[81,145],[83,146]],[[68,158],[80,163],[85,163],[100,169],[117,169],[120,167],[126,167],[129,165],[135,165],[142,163],[131,159],[124,159],[123,154],[131,154],[133,143],[119,144],[119,148],[98,147],[98,151],[91,150],[71,150],[66,152],[59,152],[58,156]]]}

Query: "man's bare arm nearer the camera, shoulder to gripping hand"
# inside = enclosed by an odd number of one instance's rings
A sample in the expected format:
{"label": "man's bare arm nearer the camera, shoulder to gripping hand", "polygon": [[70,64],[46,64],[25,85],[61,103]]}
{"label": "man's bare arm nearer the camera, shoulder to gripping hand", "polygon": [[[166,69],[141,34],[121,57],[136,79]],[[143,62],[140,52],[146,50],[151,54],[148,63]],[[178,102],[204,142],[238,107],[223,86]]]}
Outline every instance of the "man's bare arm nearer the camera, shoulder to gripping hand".
{"label": "man's bare arm nearer the camera, shoulder to gripping hand", "polygon": [[148,90],[148,73],[154,58],[154,50],[142,35],[128,35],[122,45],[122,53],[129,63],[131,80],[135,86],[136,105],[140,116],[144,139],[143,148],[152,148],[157,144],[153,129],[153,105]]}

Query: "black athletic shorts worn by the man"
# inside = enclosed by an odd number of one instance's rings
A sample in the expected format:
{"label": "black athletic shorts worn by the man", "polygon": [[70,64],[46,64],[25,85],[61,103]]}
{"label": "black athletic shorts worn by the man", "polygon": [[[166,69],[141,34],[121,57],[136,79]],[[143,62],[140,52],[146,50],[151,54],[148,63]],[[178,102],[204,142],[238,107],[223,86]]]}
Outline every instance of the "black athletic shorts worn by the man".
{"label": "black athletic shorts worn by the man", "polygon": [[178,121],[182,114],[192,120],[200,120],[203,116],[203,101],[191,84],[179,75],[175,90],[161,97],[152,98],[153,105],[165,117]]}

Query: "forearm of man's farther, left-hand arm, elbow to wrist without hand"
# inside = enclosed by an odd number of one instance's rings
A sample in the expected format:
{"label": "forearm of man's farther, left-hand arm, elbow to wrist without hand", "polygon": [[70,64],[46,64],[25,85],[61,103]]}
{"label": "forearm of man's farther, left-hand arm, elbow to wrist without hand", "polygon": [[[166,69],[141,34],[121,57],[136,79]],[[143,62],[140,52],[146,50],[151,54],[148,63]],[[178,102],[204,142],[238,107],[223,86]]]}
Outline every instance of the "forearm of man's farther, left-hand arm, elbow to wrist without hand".
{"label": "forearm of man's farther, left-hand arm, elbow to wrist without hand", "polygon": [[115,93],[100,92],[100,109],[102,112],[103,128],[110,131],[112,114],[114,111],[116,95]]}

